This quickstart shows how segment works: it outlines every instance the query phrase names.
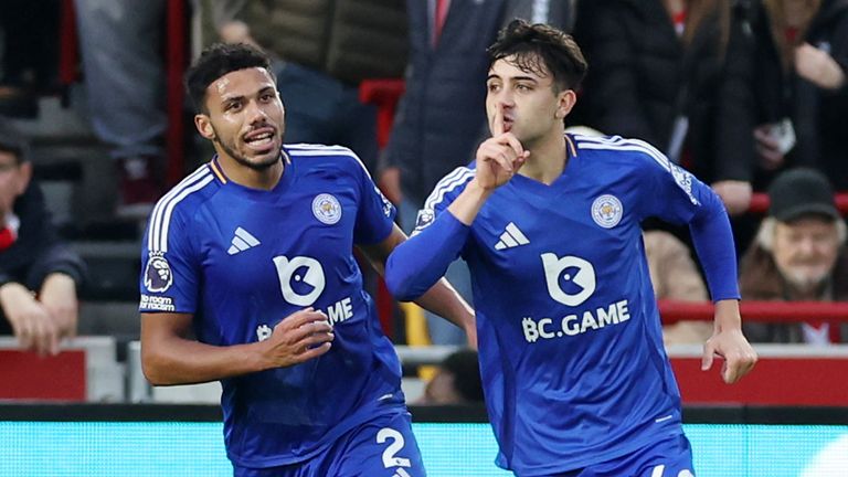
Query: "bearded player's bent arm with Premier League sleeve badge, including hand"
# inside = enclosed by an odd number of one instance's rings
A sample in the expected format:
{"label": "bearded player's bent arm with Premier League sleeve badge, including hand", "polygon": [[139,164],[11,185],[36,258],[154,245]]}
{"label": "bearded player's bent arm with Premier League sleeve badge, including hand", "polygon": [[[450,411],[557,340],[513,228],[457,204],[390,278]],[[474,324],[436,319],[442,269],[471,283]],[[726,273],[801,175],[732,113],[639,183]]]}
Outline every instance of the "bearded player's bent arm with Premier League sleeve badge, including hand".
{"label": "bearded player's bent arm with Premier League sleeve badge, including hand", "polygon": [[[208,278],[199,266],[203,225],[193,220],[194,200],[202,197],[187,192],[192,183],[202,186],[206,174],[199,169],[167,194],[153,209],[142,239],[141,367],[156,385],[216,381],[297,364],[326,353],[333,338],[327,316],[311,308],[280,317],[271,337],[258,342],[219,346],[192,337]],[[187,195],[182,202],[180,192]]]}

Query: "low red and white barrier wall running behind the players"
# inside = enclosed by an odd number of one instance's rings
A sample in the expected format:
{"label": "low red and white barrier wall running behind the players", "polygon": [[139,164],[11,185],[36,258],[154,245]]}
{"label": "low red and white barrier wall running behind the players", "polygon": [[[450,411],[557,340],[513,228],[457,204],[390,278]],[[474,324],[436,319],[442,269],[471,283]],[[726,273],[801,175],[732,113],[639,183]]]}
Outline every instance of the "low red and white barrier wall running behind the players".
{"label": "low red and white barrier wall running behind the players", "polygon": [[[128,344],[126,363],[116,360],[116,342],[110,337],[76,338],[56,357],[39,357],[17,347],[12,338],[0,339],[0,399],[218,403],[221,395],[218,383],[150,386],[141,372],[137,341]],[[414,370],[437,364],[456,348],[396,349],[404,368]],[[668,347],[683,403],[848,406],[848,386],[841,385],[848,383],[848,344],[755,344],[755,349],[760,362],[754,372],[727,385],[719,375],[720,359],[712,370],[700,370],[700,344]],[[410,401],[423,391],[416,377],[405,377],[403,386]]]}

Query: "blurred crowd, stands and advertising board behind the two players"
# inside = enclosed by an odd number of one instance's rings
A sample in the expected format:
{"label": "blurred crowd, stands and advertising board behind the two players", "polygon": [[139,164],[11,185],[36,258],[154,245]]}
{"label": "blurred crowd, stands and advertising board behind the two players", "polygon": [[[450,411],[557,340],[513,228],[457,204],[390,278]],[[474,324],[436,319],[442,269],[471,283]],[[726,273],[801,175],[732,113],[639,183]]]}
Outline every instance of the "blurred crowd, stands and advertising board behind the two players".
{"label": "blurred crowd, stands and advertising board behind the two players", "polygon": [[[653,144],[731,215],[761,357],[734,386],[700,371],[688,231],[644,224],[698,475],[848,475],[844,0],[2,0],[0,475],[232,473],[220,385],[151,388],[139,364],[147,216],[212,155],[182,89],[204,46],[271,53],[286,142],[353,149],[409,232],[487,135],[485,47],[516,17],[586,55],[570,131]],[[367,275],[430,475],[506,475],[462,332]],[[462,263],[448,279],[473,299]]]}

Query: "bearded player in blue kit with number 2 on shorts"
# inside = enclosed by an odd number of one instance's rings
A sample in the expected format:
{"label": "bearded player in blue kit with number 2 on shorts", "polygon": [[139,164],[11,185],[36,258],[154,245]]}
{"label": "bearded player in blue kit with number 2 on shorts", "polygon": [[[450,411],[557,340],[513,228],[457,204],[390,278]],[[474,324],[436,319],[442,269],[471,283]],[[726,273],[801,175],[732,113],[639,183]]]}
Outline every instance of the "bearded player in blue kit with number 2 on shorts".
{"label": "bearded player in blue kit with number 2 on shorts", "polygon": [[[216,155],[150,216],[145,375],[221,381],[236,476],[424,476],[401,365],[353,257],[357,244],[383,271],[405,240],[394,208],[349,149],[283,145],[264,53],[211,46],[187,87]],[[474,332],[446,283],[420,303]]]}

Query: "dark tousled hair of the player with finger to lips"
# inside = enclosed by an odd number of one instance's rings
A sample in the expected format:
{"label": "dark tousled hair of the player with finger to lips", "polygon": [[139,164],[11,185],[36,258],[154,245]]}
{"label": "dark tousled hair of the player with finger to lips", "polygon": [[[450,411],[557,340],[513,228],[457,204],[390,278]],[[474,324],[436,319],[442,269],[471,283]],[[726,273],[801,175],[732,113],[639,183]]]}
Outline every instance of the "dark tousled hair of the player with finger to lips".
{"label": "dark tousled hair of the player with finger to lips", "polygon": [[519,70],[540,76],[552,74],[556,93],[577,89],[589,68],[571,35],[548,24],[530,24],[519,19],[505,26],[486,52],[489,68],[498,60],[515,55],[513,64]]}

